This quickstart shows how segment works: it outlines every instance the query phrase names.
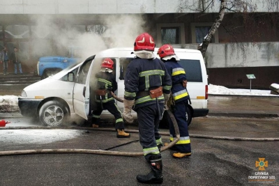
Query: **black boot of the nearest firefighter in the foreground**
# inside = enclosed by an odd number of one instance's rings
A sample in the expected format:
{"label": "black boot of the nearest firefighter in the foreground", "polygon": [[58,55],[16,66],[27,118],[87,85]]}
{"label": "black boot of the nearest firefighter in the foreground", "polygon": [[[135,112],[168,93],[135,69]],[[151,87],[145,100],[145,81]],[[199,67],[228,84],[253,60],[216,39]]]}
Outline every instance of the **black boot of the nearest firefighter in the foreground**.
{"label": "black boot of the nearest firefighter in the foreground", "polygon": [[149,161],[151,172],[147,175],[137,175],[137,181],[146,184],[163,183],[163,164],[161,156],[151,156]]}

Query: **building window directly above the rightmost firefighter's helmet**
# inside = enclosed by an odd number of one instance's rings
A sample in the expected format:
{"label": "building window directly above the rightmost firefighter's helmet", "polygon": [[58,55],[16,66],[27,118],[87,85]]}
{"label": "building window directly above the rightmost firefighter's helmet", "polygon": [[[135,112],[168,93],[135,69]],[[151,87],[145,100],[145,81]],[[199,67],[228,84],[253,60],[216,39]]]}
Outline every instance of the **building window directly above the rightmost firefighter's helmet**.
{"label": "building window directly above the rightmost firefighter's helmet", "polygon": [[[155,39],[155,38],[154,38]],[[185,44],[185,29],[183,23],[157,24],[158,46],[164,44]]]}

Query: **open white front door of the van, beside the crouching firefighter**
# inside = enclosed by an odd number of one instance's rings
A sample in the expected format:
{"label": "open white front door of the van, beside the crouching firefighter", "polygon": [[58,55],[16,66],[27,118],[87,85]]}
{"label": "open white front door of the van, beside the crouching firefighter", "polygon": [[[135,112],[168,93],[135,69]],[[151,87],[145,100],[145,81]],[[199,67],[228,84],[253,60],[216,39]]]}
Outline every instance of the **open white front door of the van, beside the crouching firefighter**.
{"label": "open white front door of the van, beside the crouching firefighter", "polygon": [[[90,59],[90,58],[89,58]],[[73,88],[73,108],[75,114],[84,119],[88,119],[90,107],[90,74],[93,66],[93,58],[87,59],[84,64],[80,66],[77,74],[77,80]]]}

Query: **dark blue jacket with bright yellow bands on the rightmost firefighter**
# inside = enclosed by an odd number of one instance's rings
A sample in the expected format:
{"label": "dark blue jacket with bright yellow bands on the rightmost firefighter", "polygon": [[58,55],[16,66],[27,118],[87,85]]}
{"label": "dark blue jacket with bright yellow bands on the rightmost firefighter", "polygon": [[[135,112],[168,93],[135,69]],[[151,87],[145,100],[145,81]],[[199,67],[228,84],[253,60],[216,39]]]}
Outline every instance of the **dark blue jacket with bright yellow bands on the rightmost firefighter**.
{"label": "dark blue jacket with bright yellow bands on the rightmost firefighter", "polygon": [[172,76],[172,96],[174,102],[189,99],[188,92],[182,83],[183,80],[187,80],[184,68],[174,58],[164,62],[167,72]]}

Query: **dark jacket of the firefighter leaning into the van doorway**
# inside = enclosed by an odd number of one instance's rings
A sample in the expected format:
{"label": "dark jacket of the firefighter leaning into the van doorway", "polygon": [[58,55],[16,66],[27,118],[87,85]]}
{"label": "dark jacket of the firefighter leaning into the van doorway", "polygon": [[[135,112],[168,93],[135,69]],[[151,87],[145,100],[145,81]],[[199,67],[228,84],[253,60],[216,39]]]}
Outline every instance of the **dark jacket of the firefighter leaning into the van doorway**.
{"label": "dark jacket of the firefighter leaning into the van doorway", "polygon": [[[102,102],[105,103],[114,100],[112,94],[110,94],[110,91],[114,93],[117,90],[117,82],[114,75],[110,72],[98,72],[96,78],[98,81],[97,89],[107,90],[107,93],[101,96]],[[100,102],[100,95],[96,95],[96,102]]]}

